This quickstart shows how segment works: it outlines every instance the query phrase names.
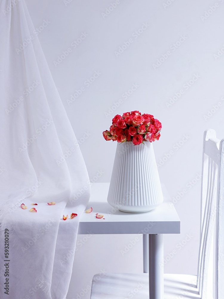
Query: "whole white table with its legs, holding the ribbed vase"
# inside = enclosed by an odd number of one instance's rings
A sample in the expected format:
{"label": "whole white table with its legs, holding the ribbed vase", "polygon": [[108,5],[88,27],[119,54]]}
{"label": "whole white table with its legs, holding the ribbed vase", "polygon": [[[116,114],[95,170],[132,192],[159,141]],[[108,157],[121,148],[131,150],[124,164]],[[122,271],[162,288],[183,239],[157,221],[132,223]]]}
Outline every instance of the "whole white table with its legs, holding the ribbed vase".
{"label": "whole white table with its legs, holding the ribbed vase", "polygon": [[[109,183],[94,183],[87,208],[81,216],[78,234],[143,234],[143,271],[149,273],[150,299],[163,299],[163,234],[180,234],[180,219],[170,205],[166,190],[164,202],[147,213],[124,213],[107,203]],[[96,219],[96,213],[105,219]],[[159,266],[160,265],[160,266]],[[105,298],[106,299],[106,298]]]}

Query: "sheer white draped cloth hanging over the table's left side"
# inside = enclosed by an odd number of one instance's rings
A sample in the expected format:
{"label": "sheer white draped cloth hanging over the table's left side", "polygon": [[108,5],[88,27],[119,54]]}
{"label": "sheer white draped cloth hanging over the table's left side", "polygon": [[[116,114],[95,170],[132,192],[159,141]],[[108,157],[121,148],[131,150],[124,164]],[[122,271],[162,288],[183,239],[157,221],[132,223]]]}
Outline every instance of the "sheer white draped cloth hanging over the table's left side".
{"label": "sheer white draped cloth hanging over the table's left side", "polygon": [[24,0],[0,10],[0,298],[64,299],[89,178]]}

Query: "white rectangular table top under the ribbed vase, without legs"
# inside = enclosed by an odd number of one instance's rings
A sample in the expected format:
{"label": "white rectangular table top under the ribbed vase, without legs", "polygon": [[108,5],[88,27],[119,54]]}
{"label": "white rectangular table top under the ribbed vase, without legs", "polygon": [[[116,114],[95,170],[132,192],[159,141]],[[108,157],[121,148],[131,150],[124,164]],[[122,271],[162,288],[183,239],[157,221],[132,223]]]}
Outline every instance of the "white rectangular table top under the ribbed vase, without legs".
{"label": "white rectangular table top under the ribbed vase, without legs", "polygon": [[[83,213],[80,218],[78,234],[180,234],[180,219],[174,208],[167,202],[166,190],[163,190],[164,202],[156,209],[146,213],[124,213],[116,210],[107,202],[109,183],[94,183],[87,209],[92,213]],[[105,219],[97,219],[96,213]]]}

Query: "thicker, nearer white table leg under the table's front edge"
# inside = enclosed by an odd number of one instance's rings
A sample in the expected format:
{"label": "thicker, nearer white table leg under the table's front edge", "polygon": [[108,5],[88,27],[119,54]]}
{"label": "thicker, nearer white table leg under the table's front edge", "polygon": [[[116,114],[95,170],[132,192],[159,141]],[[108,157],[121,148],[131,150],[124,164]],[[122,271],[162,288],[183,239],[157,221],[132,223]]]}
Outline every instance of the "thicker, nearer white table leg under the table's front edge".
{"label": "thicker, nearer white table leg under the table's front edge", "polygon": [[163,234],[149,235],[149,298],[164,298]]}

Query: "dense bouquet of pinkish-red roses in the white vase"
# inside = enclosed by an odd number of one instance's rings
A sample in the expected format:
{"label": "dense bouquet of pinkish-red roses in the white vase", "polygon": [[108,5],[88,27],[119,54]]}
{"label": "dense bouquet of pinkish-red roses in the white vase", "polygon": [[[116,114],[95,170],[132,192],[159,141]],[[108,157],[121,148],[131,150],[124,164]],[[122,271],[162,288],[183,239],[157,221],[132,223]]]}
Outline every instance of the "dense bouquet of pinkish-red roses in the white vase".
{"label": "dense bouquet of pinkish-red roses in the white vase", "polygon": [[123,113],[123,116],[116,115],[112,119],[110,130],[103,131],[105,140],[113,140],[122,143],[132,141],[134,145],[143,141],[155,141],[160,138],[162,125],[159,120],[151,114],[143,114],[139,111]]}

